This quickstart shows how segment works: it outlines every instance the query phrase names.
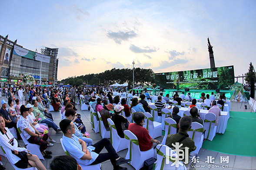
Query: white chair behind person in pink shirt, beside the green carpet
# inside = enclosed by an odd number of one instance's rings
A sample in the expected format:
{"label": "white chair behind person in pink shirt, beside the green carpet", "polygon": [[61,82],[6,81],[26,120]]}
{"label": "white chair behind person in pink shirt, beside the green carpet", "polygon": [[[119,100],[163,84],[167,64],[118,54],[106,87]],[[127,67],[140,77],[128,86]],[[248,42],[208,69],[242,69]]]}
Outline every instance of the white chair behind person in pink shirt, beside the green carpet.
{"label": "white chair behind person in pink shirt, beside the green carpet", "polygon": [[206,129],[206,139],[212,141],[216,135],[217,126],[215,126],[216,115],[214,113],[207,113],[204,119],[204,128]]}

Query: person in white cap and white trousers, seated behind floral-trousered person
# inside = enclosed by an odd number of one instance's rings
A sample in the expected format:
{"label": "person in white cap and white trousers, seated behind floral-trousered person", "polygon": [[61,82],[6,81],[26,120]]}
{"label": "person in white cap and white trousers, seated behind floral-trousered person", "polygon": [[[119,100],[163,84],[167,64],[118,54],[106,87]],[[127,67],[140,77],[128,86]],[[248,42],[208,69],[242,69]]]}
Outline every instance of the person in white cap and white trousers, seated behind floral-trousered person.
{"label": "person in white cap and white trousers, seated behind floral-trousered person", "polygon": [[[47,131],[49,132],[48,133],[48,137],[49,137],[49,142],[52,142],[52,143],[55,143],[56,141],[54,141],[52,138],[51,138],[51,135],[50,135],[50,131],[49,131],[49,128],[45,125],[42,125],[42,124],[39,124],[38,123],[38,116],[40,114],[37,114],[37,117],[35,117],[35,115],[33,114],[33,105],[31,105],[30,103],[28,103],[26,105],[27,108],[29,108],[29,111],[28,111],[28,115],[27,115],[27,119],[29,119],[30,123],[37,129],[38,132],[43,132],[44,129],[47,129]],[[47,141],[47,144],[48,146],[53,146],[53,144],[49,143]]]}

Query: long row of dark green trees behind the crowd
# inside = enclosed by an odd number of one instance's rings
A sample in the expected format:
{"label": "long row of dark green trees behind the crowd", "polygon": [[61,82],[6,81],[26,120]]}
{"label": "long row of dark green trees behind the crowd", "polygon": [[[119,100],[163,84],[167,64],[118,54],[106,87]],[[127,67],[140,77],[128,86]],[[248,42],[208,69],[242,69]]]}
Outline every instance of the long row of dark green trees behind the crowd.
{"label": "long row of dark green trees behind the crowd", "polygon": [[[146,84],[150,85],[153,80],[153,70],[144,69],[144,68],[134,68],[134,81],[137,81],[137,84]],[[132,83],[133,82],[133,69],[122,68],[111,70],[106,70],[99,74],[86,74],[79,77],[68,77],[60,81],[60,83],[70,84],[70,85],[81,85],[83,83],[90,85],[99,85],[102,83]]]}

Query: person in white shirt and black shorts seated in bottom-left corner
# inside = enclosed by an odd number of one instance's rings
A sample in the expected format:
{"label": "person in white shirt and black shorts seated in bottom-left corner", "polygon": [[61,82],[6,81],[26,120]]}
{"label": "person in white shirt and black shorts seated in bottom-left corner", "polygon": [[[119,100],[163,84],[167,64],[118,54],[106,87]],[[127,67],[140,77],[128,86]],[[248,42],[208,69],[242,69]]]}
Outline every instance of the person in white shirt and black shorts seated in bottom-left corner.
{"label": "person in white shirt and black shorts seated in bottom-left corner", "polygon": [[[0,114],[0,145],[6,152],[9,161],[16,167],[25,169],[29,167],[37,167],[38,170],[46,170],[42,162],[38,159],[37,155],[32,155],[26,148],[18,147],[18,141],[13,137],[13,134],[8,128],[5,128],[3,115]],[[20,157],[16,155],[19,152],[26,152],[28,162],[23,162]],[[1,169],[3,166],[0,166]]]}

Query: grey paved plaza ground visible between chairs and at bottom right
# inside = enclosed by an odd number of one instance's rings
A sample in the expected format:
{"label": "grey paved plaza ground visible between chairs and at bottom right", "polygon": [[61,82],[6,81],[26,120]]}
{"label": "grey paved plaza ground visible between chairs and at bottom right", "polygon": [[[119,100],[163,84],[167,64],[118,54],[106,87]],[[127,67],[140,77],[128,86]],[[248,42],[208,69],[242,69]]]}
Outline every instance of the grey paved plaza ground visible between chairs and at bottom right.
{"label": "grey paved plaza ground visible between chairs and at bottom right", "polygon": [[[7,101],[6,96],[3,96],[0,98],[0,100],[5,99]],[[251,107],[250,109],[244,109],[244,104],[243,106],[240,108],[242,103],[240,102],[231,102],[231,108],[230,111],[236,111],[236,112],[250,112],[251,111]],[[84,125],[86,126],[86,131],[90,133],[90,138],[93,139],[93,143],[96,143],[97,141],[100,141],[101,136],[99,135],[99,133],[95,133],[92,128],[91,128],[91,123],[90,123],[90,112],[88,111],[81,111],[80,110],[80,106],[76,106],[76,108],[78,109],[76,112],[81,114],[81,118],[83,120]],[[53,119],[54,122],[56,122],[57,125],[59,125],[60,122],[60,112],[51,112],[53,115]],[[62,133],[56,133],[52,128],[50,128],[50,133],[52,138],[56,141],[56,143],[54,143],[54,146],[52,147],[48,147],[47,150],[48,151],[52,151],[53,154],[53,158],[59,155],[65,155],[61,144],[60,144],[60,138],[62,138]],[[224,134],[225,135],[225,134]],[[163,136],[156,138],[157,140],[161,141],[163,140]],[[24,145],[23,141],[19,141],[19,144]],[[249,147],[249,146],[248,146]],[[236,149],[236,148],[234,148]],[[120,156],[125,157],[126,153],[127,153],[128,149],[123,150],[118,152],[118,154],[120,154]],[[106,149],[104,148],[102,153],[106,152]],[[215,158],[215,163],[213,165],[209,165],[206,164],[205,161],[207,159],[208,156],[212,156]],[[226,157],[229,156],[229,164],[226,163],[222,163],[220,164],[220,157]],[[14,170],[14,168],[11,166],[11,164],[9,163],[9,161],[7,160],[7,158],[2,157],[2,162],[3,162],[3,166],[6,167],[7,170]],[[256,157],[244,157],[244,156],[238,156],[238,155],[231,155],[231,154],[223,154],[223,153],[219,153],[219,152],[215,152],[215,151],[209,151],[207,149],[203,149],[201,148],[198,154],[199,157],[199,163],[197,163],[197,165],[200,165],[202,167],[197,167],[196,170],[214,170],[214,169],[227,169],[227,170],[239,170],[239,169],[244,169],[244,170],[256,170]],[[50,162],[52,159],[46,159],[46,160],[42,160],[42,163],[44,164],[45,167],[47,167],[47,170],[50,170]],[[226,168],[226,166],[223,167],[215,167],[218,165],[228,165],[228,168]],[[130,166],[129,164],[123,164],[121,165],[123,167],[127,167],[128,170],[134,170],[134,168],[132,166]],[[204,167],[203,167],[204,166]],[[210,166],[210,167],[209,167]],[[214,167],[213,167],[214,166]],[[113,170],[113,166],[110,163],[110,160],[105,161],[102,163],[102,170]]]}

